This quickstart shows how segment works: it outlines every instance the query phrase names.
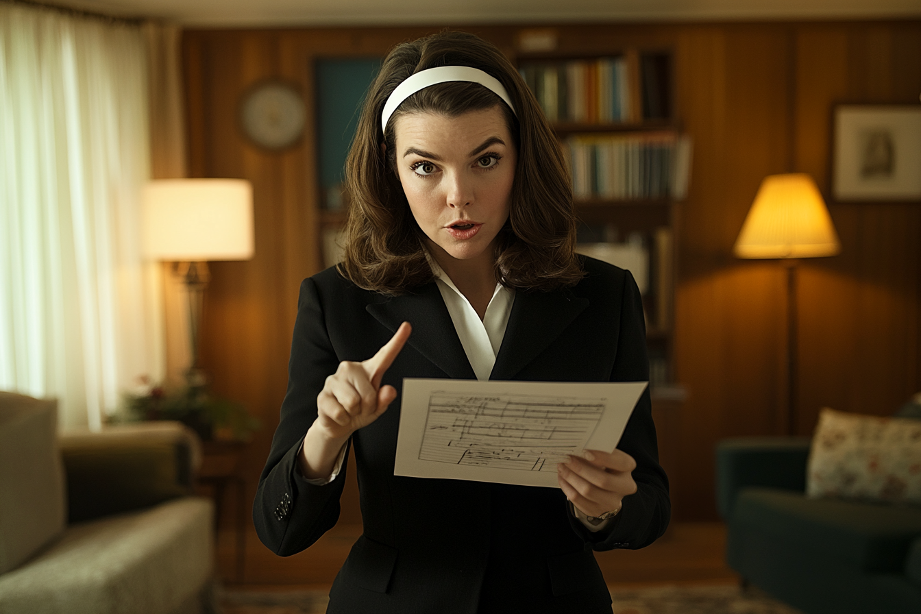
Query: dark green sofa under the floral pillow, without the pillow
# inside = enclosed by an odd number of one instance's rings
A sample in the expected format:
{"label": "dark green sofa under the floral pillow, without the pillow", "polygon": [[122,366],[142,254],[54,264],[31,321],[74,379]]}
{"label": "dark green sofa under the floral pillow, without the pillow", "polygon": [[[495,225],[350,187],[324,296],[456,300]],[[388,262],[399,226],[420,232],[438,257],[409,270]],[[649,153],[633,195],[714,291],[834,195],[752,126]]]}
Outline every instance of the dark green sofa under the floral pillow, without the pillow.
{"label": "dark green sofa under the floral pillow, without the pillow", "polygon": [[921,507],[806,494],[810,438],[717,444],[727,562],[807,614],[921,612]]}

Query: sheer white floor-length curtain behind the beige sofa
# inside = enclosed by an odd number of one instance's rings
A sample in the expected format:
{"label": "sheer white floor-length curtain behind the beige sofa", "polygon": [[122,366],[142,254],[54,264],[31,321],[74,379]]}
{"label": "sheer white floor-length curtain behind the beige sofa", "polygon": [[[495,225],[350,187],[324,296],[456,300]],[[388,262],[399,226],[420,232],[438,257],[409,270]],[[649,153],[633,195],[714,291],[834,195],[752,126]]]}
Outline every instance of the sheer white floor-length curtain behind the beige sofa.
{"label": "sheer white floor-length curtain behind the beige sofa", "polygon": [[163,375],[149,172],[141,28],[0,3],[0,389],[57,397],[63,429]]}

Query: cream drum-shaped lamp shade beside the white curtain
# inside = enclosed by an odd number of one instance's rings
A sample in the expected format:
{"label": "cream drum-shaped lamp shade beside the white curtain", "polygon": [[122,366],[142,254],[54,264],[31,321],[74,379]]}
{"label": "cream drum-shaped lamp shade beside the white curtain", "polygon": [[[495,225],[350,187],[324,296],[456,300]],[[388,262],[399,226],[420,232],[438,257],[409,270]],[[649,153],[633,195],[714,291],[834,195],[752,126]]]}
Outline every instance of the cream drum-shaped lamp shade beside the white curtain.
{"label": "cream drum-shaped lamp shade beside the white curtain", "polygon": [[144,191],[145,255],[161,261],[252,258],[252,186],[246,180],[154,180]]}

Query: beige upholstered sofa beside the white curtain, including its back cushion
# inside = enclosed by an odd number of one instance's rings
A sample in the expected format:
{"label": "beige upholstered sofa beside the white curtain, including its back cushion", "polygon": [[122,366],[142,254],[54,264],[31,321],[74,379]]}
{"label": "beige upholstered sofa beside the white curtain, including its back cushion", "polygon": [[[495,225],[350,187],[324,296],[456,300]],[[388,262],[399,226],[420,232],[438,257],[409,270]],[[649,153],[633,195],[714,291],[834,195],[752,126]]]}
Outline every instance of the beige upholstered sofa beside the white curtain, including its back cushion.
{"label": "beige upholstered sofa beside the white curtain, including its back cushion", "polygon": [[0,392],[0,614],[214,610],[213,504],[180,423],[57,434],[57,403]]}

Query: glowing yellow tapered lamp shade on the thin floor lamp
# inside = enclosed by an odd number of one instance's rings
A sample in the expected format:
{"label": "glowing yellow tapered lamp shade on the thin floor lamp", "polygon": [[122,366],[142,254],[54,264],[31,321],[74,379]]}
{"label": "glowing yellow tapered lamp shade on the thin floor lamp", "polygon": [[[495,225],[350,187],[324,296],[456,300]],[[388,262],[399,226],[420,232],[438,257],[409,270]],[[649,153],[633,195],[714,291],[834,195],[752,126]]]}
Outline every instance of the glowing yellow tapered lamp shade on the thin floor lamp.
{"label": "glowing yellow tapered lamp shade on the thin floor lamp", "polygon": [[841,243],[815,182],[806,173],[764,178],[739,238],[739,258],[834,256]]}

